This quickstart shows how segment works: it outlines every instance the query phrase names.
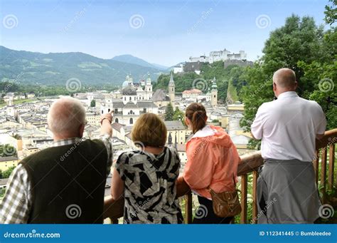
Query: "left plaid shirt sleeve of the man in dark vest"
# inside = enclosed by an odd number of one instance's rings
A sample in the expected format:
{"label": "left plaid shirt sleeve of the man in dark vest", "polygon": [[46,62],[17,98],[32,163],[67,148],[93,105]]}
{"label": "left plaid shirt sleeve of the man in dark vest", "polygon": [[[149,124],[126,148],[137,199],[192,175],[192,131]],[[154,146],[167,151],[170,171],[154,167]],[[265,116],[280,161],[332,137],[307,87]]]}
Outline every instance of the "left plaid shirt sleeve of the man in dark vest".
{"label": "left plaid shirt sleeve of the man in dark vest", "polygon": [[26,224],[31,209],[31,182],[23,165],[11,173],[6,189],[0,204],[0,223]]}

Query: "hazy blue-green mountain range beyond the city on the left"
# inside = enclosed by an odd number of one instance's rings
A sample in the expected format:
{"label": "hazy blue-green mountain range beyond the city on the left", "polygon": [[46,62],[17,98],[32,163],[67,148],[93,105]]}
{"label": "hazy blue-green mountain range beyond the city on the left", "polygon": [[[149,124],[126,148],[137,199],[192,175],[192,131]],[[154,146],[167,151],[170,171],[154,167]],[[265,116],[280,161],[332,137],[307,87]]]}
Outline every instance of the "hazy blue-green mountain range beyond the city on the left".
{"label": "hazy blue-green mountain range beyond the city on the left", "polygon": [[81,52],[38,53],[0,46],[0,81],[63,85],[68,79],[77,78],[88,85],[120,85],[129,73],[137,83],[146,78],[147,73],[156,80],[169,70],[132,55],[102,59]]}

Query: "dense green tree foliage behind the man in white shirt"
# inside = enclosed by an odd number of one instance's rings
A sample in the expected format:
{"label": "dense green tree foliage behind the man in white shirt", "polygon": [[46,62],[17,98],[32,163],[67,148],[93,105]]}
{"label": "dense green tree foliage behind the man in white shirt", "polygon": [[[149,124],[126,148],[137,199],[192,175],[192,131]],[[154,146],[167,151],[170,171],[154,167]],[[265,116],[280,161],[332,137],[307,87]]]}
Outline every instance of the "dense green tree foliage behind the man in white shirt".
{"label": "dense green tree foliage behind the man in white shirt", "polygon": [[[254,66],[246,68],[247,85],[240,91],[245,103],[241,125],[250,130],[257,108],[274,97],[272,75],[279,68],[291,68],[299,83],[297,93],[302,98],[316,100],[326,112],[328,128],[336,128],[336,95],[333,89],[322,92],[319,81],[336,80],[336,33],[316,26],[309,16],[292,15],[284,26],[270,33],[263,48],[264,56]],[[252,143],[255,145],[255,143]]]}

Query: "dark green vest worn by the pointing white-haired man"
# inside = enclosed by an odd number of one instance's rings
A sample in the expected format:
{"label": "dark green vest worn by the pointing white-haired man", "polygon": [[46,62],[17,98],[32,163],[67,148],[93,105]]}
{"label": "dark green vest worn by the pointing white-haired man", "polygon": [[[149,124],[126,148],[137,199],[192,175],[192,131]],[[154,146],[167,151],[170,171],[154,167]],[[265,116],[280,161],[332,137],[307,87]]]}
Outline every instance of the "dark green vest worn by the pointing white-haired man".
{"label": "dark green vest worn by the pointing white-haired man", "polygon": [[36,152],[21,161],[31,181],[31,224],[100,224],[107,149],[84,140]]}

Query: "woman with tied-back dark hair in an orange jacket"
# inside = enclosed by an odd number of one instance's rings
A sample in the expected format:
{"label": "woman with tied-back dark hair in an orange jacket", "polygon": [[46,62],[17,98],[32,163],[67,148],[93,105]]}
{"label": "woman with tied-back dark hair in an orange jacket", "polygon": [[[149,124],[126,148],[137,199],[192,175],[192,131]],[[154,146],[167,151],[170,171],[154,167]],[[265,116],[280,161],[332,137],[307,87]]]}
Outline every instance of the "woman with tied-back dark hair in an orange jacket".
{"label": "woman with tied-back dark hair in an orange jacket", "polygon": [[218,217],[213,212],[209,190],[235,191],[240,157],[230,136],[220,127],[207,125],[208,117],[200,103],[186,109],[186,125],[193,137],[186,143],[187,162],[183,174],[191,190],[198,195],[200,206],[193,224],[228,224],[232,217]]}

